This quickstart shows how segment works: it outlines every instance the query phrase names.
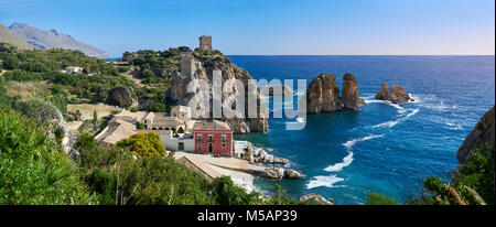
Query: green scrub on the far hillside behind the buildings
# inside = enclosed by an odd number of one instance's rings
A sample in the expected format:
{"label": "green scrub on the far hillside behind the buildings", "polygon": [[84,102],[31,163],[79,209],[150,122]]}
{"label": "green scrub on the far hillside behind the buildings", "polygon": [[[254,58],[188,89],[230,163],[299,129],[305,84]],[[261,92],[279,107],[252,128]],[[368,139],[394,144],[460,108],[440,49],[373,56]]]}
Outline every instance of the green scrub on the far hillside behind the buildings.
{"label": "green scrub on the far hillside behind the buildings", "polygon": [[[141,53],[141,52],[139,52]],[[72,50],[18,50],[7,43],[0,43],[0,60],[2,68],[7,72],[0,76],[0,87],[8,82],[47,82],[52,86],[47,94],[37,94],[41,98],[50,100],[52,96],[63,95],[67,104],[84,104],[107,101],[108,89],[126,87],[131,90],[136,99],[150,104],[143,110],[165,111],[169,108],[165,90],[169,88],[169,77],[179,71],[172,60],[158,57],[154,52],[144,51],[148,55],[139,55],[137,64],[141,72],[148,72],[149,78],[144,79],[150,87],[140,87],[128,79],[121,73],[130,67],[116,67],[110,62],[86,56],[79,51]],[[153,56],[153,57],[152,57]],[[67,66],[83,67],[83,73],[66,74],[62,71]],[[169,73],[162,73],[169,72]],[[165,75],[165,76],[162,76]],[[105,90],[105,91],[101,91]],[[1,90],[0,90],[1,91]],[[6,98],[4,93],[1,93]],[[66,98],[69,96],[71,98]],[[56,104],[61,101],[57,98]],[[61,110],[63,111],[64,108]],[[63,111],[65,112],[65,111]]]}

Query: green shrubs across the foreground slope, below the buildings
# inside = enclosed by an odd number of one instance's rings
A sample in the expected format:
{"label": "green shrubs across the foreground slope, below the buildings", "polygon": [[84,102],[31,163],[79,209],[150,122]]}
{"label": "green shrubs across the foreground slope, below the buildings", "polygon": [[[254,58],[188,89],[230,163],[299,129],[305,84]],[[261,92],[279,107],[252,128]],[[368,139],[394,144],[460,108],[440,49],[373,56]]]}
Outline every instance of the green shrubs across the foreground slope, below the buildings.
{"label": "green shrubs across the foreground slope, below the buildings", "polygon": [[133,155],[137,142],[163,148],[153,134],[104,148],[83,133],[74,145],[79,153],[74,162],[57,142],[63,130],[54,129],[50,139],[50,131],[37,129],[34,119],[0,108],[0,204],[296,204],[280,187],[276,197],[267,198],[247,194],[230,177],[211,183],[173,158]]}

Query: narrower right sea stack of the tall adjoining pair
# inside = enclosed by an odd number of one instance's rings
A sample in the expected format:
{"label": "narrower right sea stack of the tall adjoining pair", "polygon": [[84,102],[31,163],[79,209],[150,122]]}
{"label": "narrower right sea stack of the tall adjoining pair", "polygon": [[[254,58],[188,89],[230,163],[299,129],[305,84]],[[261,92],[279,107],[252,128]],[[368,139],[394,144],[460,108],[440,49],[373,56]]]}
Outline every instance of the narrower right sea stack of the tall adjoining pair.
{"label": "narrower right sea stack of the tall adjoining pair", "polygon": [[349,73],[343,76],[343,91],[341,93],[341,97],[346,109],[359,110],[360,105],[365,104],[358,91],[358,83],[355,76]]}

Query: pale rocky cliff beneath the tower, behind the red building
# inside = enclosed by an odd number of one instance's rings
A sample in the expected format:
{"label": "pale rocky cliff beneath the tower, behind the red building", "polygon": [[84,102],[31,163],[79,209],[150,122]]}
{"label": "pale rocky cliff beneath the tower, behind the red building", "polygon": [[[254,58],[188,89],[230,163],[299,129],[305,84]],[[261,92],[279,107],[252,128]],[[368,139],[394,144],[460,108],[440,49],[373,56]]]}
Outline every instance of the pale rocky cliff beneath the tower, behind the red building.
{"label": "pale rocky cliff beneath the tower, behind the red building", "polygon": [[[201,65],[192,74],[181,74],[177,72],[171,82],[171,87],[166,91],[168,99],[177,105],[187,106],[190,100],[195,97],[197,100],[209,100],[212,104],[213,91],[209,88],[208,94],[202,95],[200,93],[187,93],[187,86],[193,79],[204,79],[212,86],[213,71],[217,69],[222,72],[222,79],[226,82],[228,79],[240,79],[245,84],[245,96],[252,96],[257,98],[257,117],[248,118],[248,101],[245,101],[245,112],[234,111],[236,118],[220,120],[229,123],[235,133],[250,133],[250,132],[267,132],[268,116],[267,109],[262,100],[262,94],[260,89],[248,90],[248,79],[251,76],[244,68],[240,68],[233,63],[229,58],[220,54],[208,54],[205,55],[201,52],[193,52],[192,56],[195,61],[200,62]],[[225,93],[223,100],[235,98],[236,91]],[[247,99],[246,99],[247,100]]]}

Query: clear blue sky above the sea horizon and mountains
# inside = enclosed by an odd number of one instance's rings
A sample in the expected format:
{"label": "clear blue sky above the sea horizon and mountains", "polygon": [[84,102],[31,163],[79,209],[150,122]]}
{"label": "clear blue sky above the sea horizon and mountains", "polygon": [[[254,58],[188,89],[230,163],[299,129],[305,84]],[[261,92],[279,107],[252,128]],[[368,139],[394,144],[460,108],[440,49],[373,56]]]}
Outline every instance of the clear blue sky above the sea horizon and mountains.
{"label": "clear blue sky above the sea horizon and mountains", "polygon": [[495,54],[494,0],[0,0],[13,22],[116,56],[202,34],[225,54]]}

